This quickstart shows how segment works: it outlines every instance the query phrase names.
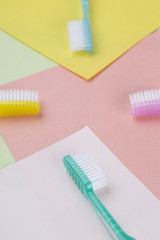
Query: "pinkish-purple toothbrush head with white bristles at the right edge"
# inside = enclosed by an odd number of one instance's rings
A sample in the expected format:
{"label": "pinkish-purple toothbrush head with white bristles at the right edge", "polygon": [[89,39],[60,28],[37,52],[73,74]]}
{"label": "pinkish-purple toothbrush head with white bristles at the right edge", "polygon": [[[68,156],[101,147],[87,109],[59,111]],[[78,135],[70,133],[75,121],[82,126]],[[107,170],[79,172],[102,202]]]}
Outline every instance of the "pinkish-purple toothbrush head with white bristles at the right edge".
{"label": "pinkish-purple toothbrush head with white bristles at the right edge", "polygon": [[160,115],[160,89],[133,93],[130,98],[130,112],[133,116]]}

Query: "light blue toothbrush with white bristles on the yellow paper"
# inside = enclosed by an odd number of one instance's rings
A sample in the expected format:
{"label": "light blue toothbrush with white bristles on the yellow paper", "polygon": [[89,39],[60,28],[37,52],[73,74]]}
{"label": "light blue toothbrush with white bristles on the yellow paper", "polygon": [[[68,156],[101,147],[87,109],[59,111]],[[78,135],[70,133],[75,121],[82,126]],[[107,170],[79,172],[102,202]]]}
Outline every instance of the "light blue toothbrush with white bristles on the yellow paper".
{"label": "light blue toothbrush with white bristles on the yellow paper", "polygon": [[88,0],[82,0],[82,21],[68,22],[68,39],[71,51],[92,51],[92,36],[89,21]]}

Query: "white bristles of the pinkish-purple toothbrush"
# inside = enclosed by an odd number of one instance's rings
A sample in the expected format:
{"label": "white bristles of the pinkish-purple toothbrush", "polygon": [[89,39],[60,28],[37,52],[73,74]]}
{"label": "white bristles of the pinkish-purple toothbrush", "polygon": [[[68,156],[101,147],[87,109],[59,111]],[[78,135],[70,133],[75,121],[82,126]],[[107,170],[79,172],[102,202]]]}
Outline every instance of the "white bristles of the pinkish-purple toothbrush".
{"label": "white bristles of the pinkish-purple toothbrush", "polygon": [[152,89],[144,92],[137,92],[129,95],[130,103],[137,104],[137,103],[146,103],[155,100],[160,100],[160,89]]}

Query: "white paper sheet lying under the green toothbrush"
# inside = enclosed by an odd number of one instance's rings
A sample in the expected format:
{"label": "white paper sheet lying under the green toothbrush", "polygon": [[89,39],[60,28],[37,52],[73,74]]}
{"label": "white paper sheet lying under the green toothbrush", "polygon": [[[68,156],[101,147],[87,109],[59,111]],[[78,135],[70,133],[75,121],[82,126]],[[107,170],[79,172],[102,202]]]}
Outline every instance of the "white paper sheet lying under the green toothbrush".
{"label": "white paper sheet lying under the green toothbrush", "polygon": [[130,236],[160,238],[159,200],[87,127],[0,171],[1,240],[106,240],[107,230],[63,167],[87,152],[108,176],[98,194]]}

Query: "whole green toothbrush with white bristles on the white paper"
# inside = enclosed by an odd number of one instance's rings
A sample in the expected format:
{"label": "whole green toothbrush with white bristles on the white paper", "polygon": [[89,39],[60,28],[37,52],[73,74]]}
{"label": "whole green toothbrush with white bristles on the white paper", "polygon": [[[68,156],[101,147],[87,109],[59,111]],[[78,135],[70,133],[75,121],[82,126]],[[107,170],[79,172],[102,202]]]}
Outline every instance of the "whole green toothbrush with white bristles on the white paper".
{"label": "whole green toothbrush with white bristles on the white paper", "polygon": [[86,154],[79,154],[73,157],[70,155],[65,156],[63,163],[81,192],[88,198],[98,215],[102,218],[112,238],[114,240],[135,240],[122,230],[94,193],[95,190],[107,185],[106,176],[97,164]]}

